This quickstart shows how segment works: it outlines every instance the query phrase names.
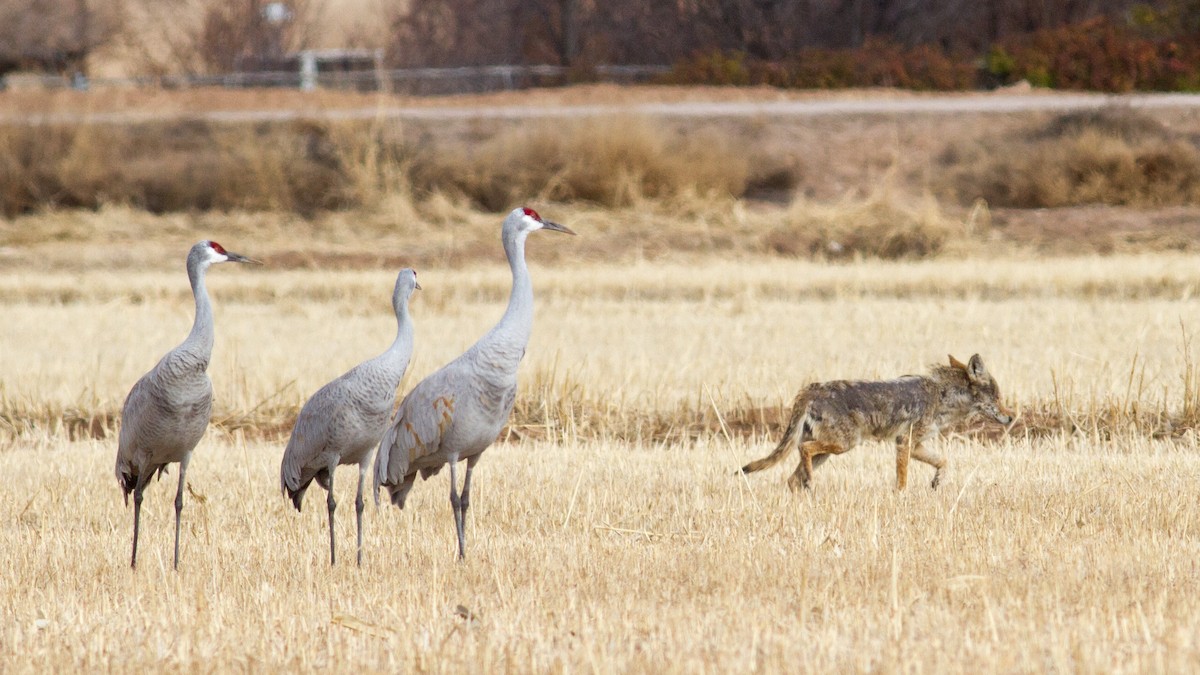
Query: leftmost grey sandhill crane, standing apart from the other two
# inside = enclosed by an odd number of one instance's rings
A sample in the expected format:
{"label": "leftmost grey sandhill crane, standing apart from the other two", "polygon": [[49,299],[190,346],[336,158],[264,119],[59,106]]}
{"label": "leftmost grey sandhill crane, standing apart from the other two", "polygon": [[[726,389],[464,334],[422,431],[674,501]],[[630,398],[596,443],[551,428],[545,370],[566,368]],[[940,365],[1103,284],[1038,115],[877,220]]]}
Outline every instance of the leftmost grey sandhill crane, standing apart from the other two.
{"label": "leftmost grey sandhill crane, standing apart from the other two", "polygon": [[125,503],[133,492],[133,555],[138,566],[138,526],[142,521],[142,492],[150,479],[179,462],[175,491],[175,569],[179,569],[179,514],[184,509],[184,479],[192,450],[209,426],[212,410],[212,382],[208,372],[212,356],[212,303],[204,287],[209,265],[224,262],[262,264],[216,241],[200,241],[187,252],[187,279],[196,298],[192,331],[167,352],[150,372],[130,390],[121,407],[121,432],[116,446],[116,480],[125,491]]}

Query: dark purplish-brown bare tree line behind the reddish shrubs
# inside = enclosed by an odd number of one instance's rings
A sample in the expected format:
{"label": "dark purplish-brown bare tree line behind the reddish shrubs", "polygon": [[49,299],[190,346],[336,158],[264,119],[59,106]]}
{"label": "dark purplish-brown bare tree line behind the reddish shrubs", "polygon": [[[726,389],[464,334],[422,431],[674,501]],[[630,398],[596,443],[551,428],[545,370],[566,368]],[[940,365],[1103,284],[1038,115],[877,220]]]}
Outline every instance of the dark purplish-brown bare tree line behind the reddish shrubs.
{"label": "dark purplish-brown bare tree line behind the reddish shrubs", "polygon": [[1196,14],[1196,0],[410,0],[397,17],[397,65],[673,64],[698,53],[781,60],[803,49],[902,47],[983,53],[1015,35]]}

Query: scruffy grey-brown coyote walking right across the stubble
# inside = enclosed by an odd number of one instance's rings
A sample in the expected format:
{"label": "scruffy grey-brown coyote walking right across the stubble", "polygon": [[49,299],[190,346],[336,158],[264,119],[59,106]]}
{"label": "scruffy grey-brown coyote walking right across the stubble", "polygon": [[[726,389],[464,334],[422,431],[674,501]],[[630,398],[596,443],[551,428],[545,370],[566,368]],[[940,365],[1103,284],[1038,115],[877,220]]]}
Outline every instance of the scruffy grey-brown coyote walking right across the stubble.
{"label": "scruffy grey-brown coyote walking right across the stubble", "polygon": [[1000,388],[979,354],[962,364],[934,365],[930,374],[906,375],[882,382],[846,381],[809,384],[792,404],[792,418],[775,450],[742,467],[750,473],[772,467],[800,448],[800,465],[787,479],[792,490],[808,488],[812,468],[829,455],[840,455],[863,437],[895,440],[896,489],[908,482],[908,458],[931,465],[932,488],[942,479],[946,459],[923,446],[947,424],[985,414],[1009,424],[1012,414],[1000,402]]}

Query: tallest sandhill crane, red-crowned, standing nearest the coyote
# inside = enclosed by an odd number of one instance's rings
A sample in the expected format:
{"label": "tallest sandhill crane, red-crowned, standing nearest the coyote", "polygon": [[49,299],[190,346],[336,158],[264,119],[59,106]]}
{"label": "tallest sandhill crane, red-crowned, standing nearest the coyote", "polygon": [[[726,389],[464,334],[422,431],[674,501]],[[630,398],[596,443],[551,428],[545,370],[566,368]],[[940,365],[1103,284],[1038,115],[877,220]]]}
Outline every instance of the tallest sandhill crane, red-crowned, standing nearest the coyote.
{"label": "tallest sandhill crane, red-crowned, standing nearest the coyote", "polygon": [[[500,239],[512,269],[512,292],[504,316],[466,353],[404,396],[376,454],[376,502],[382,485],[388,488],[391,503],[400,508],[404,508],[404,497],[418,472],[428,478],[443,465],[450,465],[450,506],[460,558],[466,557],[463,522],[470,500],[470,472],[512,412],[517,366],[533,331],[533,283],[526,267],[524,243],[538,229],[575,234],[562,225],[541,220],[533,209],[518,208],[504,219]],[[461,497],[458,460],[467,460]]]}

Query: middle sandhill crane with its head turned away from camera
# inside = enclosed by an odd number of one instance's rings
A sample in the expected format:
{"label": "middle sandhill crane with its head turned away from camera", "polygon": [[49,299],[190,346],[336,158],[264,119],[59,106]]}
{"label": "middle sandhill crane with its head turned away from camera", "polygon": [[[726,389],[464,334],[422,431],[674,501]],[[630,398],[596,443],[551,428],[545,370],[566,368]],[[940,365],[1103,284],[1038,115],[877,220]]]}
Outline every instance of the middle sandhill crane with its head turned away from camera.
{"label": "middle sandhill crane with its head turned away from camera", "polygon": [[413,322],[408,298],[420,288],[416,271],[403,269],[396,277],[391,306],[396,311],[396,339],[378,357],[364,362],[317,390],[305,402],[283,450],[280,488],[300,510],[305,490],[316,478],[329,491],[329,563],[337,557],[334,545],[334,470],[359,465],[359,494],[354,500],[358,519],[359,566],[362,566],[362,484],[371,450],[388,429],[396,405],[396,388],[413,356]]}

